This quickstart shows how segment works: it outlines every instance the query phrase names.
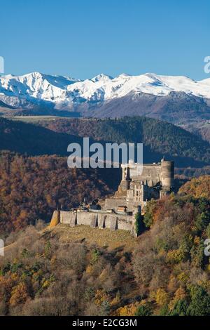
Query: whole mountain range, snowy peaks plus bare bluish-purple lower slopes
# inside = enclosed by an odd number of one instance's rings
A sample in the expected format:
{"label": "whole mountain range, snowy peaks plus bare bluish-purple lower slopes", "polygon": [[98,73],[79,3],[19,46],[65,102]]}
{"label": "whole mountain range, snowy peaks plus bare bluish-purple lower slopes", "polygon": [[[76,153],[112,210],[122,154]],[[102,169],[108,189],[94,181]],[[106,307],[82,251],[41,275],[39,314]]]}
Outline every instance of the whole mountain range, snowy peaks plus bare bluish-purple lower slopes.
{"label": "whole mountain range, snowy peaks plus bare bluish-purple lower slopes", "polygon": [[95,117],[146,115],[177,122],[210,119],[210,79],[188,77],[99,74],[92,79],[32,72],[0,77],[0,101],[9,107],[36,111],[78,112]]}

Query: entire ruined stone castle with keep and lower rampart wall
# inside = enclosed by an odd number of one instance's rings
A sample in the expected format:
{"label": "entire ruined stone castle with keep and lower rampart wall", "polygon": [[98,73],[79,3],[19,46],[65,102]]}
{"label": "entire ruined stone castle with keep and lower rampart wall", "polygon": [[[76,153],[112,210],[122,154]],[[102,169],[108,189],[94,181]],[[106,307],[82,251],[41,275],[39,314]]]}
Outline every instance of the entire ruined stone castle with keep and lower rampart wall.
{"label": "entire ruined stone castle with keep and lower rampart wall", "polygon": [[101,207],[98,201],[92,204],[82,203],[71,211],[54,211],[50,226],[65,223],[90,225],[112,230],[130,230],[134,234],[135,215],[144,214],[145,206],[151,199],[161,199],[174,188],[174,161],[142,164],[129,161],[121,164],[122,180],[118,191],[111,198],[105,199]]}

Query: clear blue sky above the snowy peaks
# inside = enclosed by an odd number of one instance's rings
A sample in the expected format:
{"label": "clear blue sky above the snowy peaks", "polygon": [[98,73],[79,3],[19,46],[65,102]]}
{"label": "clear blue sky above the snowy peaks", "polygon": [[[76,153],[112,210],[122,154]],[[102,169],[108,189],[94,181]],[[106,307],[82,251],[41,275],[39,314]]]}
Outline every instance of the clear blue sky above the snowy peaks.
{"label": "clear blue sky above the snowy peaks", "polygon": [[209,78],[209,0],[7,0],[0,13],[6,74]]}

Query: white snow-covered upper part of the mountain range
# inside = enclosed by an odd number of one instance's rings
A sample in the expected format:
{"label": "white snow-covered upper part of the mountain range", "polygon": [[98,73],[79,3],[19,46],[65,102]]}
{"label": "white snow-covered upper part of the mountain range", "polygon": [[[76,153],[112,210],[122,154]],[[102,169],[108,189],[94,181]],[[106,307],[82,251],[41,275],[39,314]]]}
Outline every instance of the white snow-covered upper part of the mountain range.
{"label": "white snow-covered upper part of the mountain range", "polygon": [[40,103],[42,100],[54,104],[55,108],[67,109],[74,104],[102,103],[130,93],[163,96],[172,91],[210,99],[210,79],[195,81],[188,77],[149,73],[140,76],[120,74],[116,78],[99,74],[84,81],[38,72],[0,77],[0,100],[16,107],[24,105],[25,100],[31,103]]}

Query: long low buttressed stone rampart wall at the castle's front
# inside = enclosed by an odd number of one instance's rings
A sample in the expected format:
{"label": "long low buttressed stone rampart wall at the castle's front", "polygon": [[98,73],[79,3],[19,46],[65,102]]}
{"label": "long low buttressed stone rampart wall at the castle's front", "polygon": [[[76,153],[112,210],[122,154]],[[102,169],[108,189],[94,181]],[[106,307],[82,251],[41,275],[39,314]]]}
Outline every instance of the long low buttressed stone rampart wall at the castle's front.
{"label": "long low buttressed stone rampart wall at the castle's front", "polygon": [[99,213],[99,212],[72,212],[60,211],[60,223],[70,225],[90,225],[91,227],[109,228],[111,230],[134,230],[134,218],[127,215]]}

